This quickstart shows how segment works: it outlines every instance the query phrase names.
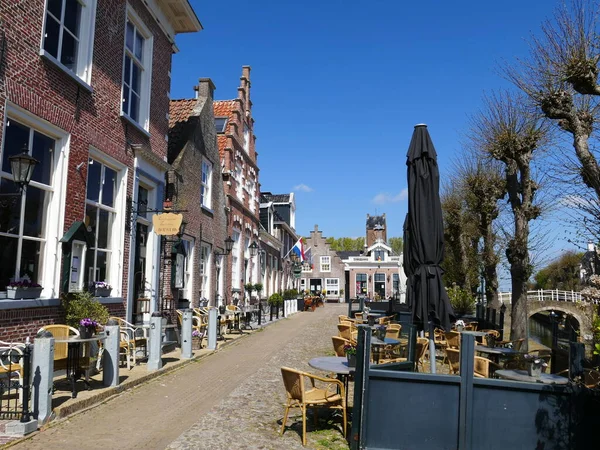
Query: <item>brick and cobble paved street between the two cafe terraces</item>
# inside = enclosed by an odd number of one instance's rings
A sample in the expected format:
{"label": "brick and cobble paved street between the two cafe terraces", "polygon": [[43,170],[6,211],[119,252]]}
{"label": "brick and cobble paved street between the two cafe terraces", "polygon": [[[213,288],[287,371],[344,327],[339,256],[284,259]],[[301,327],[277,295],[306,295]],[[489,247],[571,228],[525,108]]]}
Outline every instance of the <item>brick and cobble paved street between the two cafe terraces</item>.
{"label": "brick and cobble paved street between the two cafe terraces", "polygon": [[[295,314],[12,448],[303,448],[298,426],[278,436],[285,400],[279,368],[309,370],[310,358],[332,354],[331,336],[345,310],[330,304]],[[316,431],[308,447],[318,448],[323,439],[342,437],[337,430]]]}

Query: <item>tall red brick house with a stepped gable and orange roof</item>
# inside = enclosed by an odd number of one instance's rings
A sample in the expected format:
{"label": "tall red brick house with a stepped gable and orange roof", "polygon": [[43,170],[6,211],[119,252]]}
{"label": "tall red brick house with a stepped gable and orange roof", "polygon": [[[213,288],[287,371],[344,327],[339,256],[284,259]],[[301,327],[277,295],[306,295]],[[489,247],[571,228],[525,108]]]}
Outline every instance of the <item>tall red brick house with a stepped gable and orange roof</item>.
{"label": "tall red brick house with a stepped gable and orange roof", "polygon": [[234,240],[229,257],[231,291],[225,302],[244,298],[244,285],[259,279],[258,257],[249,247],[259,244],[259,169],[255,149],[254,119],[250,100],[250,66],[243,66],[238,97],[214,102],[219,153],[223,163],[223,188],[229,211],[228,233]]}

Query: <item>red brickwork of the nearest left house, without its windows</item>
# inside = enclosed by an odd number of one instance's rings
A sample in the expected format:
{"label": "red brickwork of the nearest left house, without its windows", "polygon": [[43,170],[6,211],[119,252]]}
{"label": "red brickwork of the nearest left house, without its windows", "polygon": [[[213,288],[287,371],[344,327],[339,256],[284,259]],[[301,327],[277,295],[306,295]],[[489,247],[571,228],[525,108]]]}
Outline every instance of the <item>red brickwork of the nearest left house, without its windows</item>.
{"label": "red brickwork of the nearest left house, without its windows", "polygon": [[[127,4],[153,35],[149,137],[120,117]],[[99,0],[90,92],[63,69],[40,56],[44,16],[43,0],[0,4],[0,122],[6,121],[8,102],[68,133],[64,233],[74,221],[81,221],[85,216],[90,147],[128,168],[127,196],[132,195],[134,185],[134,155],[128,151],[126,142],[141,144],[144,150],[160,159],[166,157],[173,45],[141,0]],[[0,140],[3,140],[3,130],[4,127],[0,127]],[[130,236],[126,233],[121,264],[124,301],[129,285],[129,244]],[[54,270],[61,270],[60,263]],[[111,305],[111,308],[124,315],[123,305],[118,308]],[[25,333],[23,327],[37,331],[40,324],[61,318],[59,307],[0,311],[0,339],[18,338]]]}

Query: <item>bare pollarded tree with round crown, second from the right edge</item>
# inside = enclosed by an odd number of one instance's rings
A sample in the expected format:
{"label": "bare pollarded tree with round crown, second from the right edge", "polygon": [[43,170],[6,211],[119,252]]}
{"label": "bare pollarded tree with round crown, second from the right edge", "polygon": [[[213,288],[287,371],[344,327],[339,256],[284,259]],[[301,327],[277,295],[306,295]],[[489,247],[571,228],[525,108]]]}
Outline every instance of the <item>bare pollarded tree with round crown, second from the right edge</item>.
{"label": "bare pollarded tree with round crown, second from the right edge", "polygon": [[511,339],[525,339],[526,344],[527,281],[532,274],[529,223],[541,213],[534,201],[538,186],[532,162],[547,139],[544,122],[530,109],[526,99],[509,92],[491,95],[469,130],[474,147],[503,165],[514,226],[506,249],[512,284]]}

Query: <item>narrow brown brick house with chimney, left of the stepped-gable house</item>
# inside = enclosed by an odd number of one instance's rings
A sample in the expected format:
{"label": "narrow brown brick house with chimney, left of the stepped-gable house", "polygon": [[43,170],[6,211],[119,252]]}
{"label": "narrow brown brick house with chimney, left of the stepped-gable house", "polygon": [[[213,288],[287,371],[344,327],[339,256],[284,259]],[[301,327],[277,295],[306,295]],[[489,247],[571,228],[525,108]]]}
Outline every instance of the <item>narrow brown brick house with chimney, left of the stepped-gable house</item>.
{"label": "narrow brown brick house with chimney, left of the stepped-gable house", "polygon": [[215,305],[231,282],[225,255],[228,214],[217,145],[210,78],[201,78],[196,98],[173,100],[169,112],[169,163],[174,170],[173,208],[187,222],[171,280],[180,306]]}

